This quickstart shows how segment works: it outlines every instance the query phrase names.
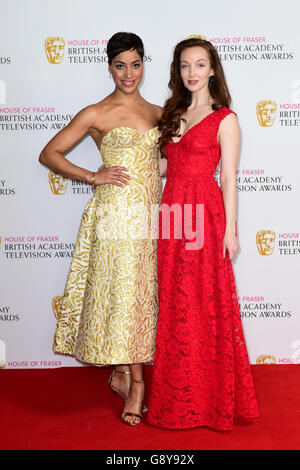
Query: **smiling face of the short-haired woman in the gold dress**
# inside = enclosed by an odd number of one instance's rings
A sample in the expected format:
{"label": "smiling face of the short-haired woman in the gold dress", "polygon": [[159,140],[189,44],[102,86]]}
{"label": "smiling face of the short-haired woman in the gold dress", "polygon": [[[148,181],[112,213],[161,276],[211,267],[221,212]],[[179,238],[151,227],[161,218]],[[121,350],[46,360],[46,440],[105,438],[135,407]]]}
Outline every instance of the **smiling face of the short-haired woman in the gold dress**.
{"label": "smiling face of the short-haired woman in the gold dress", "polygon": [[118,54],[108,69],[116,87],[127,94],[133,93],[143,78],[143,61],[135,49]]}

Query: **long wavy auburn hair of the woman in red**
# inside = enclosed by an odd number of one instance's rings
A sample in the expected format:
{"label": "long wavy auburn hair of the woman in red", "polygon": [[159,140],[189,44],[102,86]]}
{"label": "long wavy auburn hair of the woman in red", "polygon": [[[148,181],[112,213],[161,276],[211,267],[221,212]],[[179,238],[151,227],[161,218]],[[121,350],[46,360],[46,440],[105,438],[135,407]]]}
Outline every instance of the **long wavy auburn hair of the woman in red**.
{"label": "long wavy auburn hair of the woman in red", "polygon": [[218,52],[211,44],[205,39],[189,38],[179,42],[175,46],[173,61],[171,63],[169,88],[172,92],[170,98],[167,99],[161,119],[158,123],[159,130],[161,131],[160,147],[161,153],[166,157],[165,147],[172,137],[181,137],[178,132],[180,129],[180,121],[183,119],[181,116],[184,114],[191,104],[192,94],[184,86],[180,74],[180,58],[181,53],[188,47],[200,46],[206,49],[209,56],[210,66],[214,70],[214,79],[212,85],[209,87],[210,95],[213,98],[212,109],[218,110],[223,106],[229,108],[231,103],[231,96],[227,87],[224,70]]}

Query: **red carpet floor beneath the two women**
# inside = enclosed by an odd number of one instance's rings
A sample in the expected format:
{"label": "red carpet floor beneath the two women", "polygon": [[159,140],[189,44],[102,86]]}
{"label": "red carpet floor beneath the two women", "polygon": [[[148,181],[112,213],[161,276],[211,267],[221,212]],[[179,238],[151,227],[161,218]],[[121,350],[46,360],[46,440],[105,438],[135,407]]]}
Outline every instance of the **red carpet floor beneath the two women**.
{"label": "red carpet floor beneath the two women", "polygon": [[[300,449],[300,366],[253,366],[261,417],[231,432],[167,431],[122,423],[111,369],[0,371],[1,449]],[[149,384],[152,367],[146,367]]]}

